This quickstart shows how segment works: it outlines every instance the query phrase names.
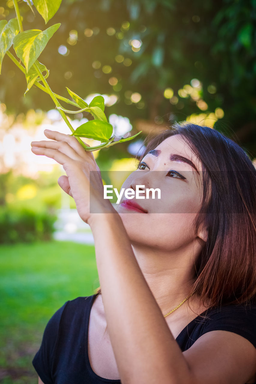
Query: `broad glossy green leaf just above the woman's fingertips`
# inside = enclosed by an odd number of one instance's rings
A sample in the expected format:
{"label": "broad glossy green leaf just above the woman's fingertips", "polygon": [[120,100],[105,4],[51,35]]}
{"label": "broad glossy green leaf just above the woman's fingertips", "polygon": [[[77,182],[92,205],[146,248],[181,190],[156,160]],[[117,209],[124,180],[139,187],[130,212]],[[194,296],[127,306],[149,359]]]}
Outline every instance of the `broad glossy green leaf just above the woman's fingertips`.
{"label": "broad glossy green leaf just above the woman's fingertips", "polygon": [[108,122],[102,120],[90,120],[76,128],[71,136],[87,137],[87,139],[106,142],[111,137],[112,132],[113,127]]}

